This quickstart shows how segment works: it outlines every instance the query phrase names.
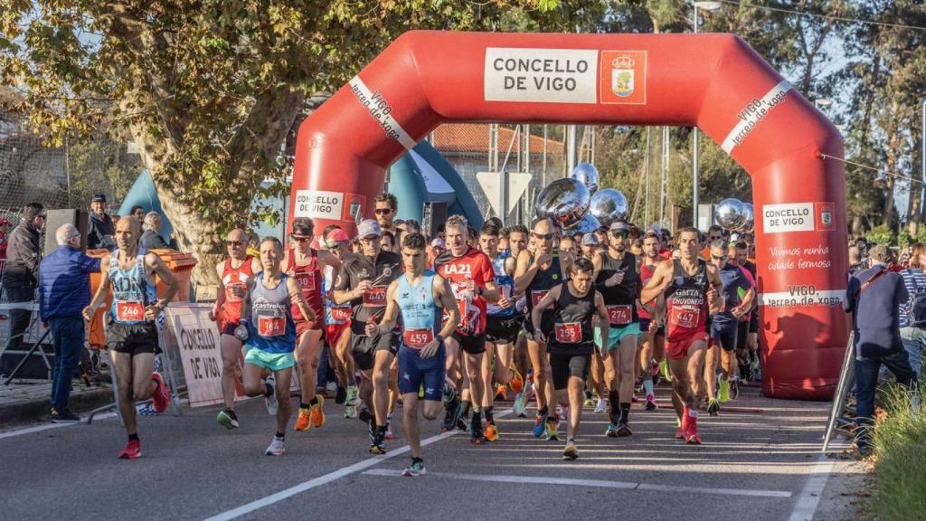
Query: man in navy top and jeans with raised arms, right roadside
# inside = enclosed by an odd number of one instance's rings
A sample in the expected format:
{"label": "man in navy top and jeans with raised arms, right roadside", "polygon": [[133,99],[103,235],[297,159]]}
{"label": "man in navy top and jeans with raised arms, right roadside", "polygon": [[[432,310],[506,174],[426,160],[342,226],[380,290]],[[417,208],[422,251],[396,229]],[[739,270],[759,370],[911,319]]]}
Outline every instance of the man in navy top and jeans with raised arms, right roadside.
{"label": "man in navy top and jeans with raised arms, right roadside", "polygon": [[869,252],[869,268],[852,273],[845,288],[845,312],[852,313],[853,348],[856,357],[856,444],[861,456],[871,453],[874,396],[881,366],[909,387],[913,369],[900,337],[901,304],[907,303],[907,287],[898,273],[888,270],[891,250],[883,245]]}

